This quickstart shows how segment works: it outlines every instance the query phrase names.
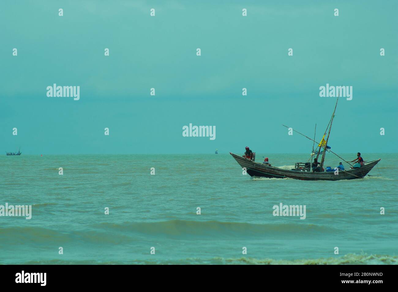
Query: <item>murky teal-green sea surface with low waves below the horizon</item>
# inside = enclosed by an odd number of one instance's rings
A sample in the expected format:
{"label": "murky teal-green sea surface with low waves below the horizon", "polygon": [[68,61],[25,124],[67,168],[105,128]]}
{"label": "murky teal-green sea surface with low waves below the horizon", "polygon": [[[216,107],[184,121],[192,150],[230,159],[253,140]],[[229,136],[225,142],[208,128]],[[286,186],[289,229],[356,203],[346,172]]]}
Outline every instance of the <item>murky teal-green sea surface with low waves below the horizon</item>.
{"label": "murky teal-green sea surface with low waves below the horizon", "polygon": [[[309,157],[266,156],[286,169]],[[396,264],[398,155],[362,156],[381,158],[369,176],[328,182],[252,178],[228,153],[4,154],[0,205],[32,217],[0,217],[0,264]],[[306,218],[273,216],[280,203]]]}

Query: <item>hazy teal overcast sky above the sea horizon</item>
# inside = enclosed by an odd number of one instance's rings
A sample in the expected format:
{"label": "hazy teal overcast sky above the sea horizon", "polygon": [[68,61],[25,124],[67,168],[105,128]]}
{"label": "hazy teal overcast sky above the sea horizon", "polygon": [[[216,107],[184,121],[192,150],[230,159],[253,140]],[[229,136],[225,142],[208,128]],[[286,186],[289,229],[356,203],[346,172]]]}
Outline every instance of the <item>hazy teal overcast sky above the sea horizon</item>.
{"label": "hazy teal overcast sky above the sea horizon", "polygon": [[[336,103],[319,95],[328,83],[353,87],[352,100],[338,102],[332,151],[395,153],[397,8],[397,1],[1,1],[0,148],[310,153],[312,142],[282,124],[309,137],[317,124],[320,141]],[[54,83],[80,86],[80,99],[47,97]],[[183,137],[190,123],[215,126],[216,138]]]}

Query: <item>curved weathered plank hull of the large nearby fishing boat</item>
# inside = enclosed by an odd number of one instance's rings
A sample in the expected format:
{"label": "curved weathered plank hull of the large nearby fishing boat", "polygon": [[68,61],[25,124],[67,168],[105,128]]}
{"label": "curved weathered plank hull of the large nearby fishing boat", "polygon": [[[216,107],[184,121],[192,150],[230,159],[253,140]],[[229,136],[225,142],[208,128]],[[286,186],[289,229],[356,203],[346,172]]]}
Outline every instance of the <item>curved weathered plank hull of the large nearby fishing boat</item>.
{"label": "curved weathered plank hull of the large nearby fishing boat", "polygon": [[266,178],[293,178],[296,180],[353,180],[356,178],[363,178],[372,170],[380,159],[365,164],[359,168],[347,169],[344,171],[339,170],[339,174],[334,172],[312,172],[312,171],[297,171],[285,170],[266,164],[254,162],[242,156],[230,153],[232,157],[239,163],[242,168],[246,168],[247,174],[250,176],[259,176]]}

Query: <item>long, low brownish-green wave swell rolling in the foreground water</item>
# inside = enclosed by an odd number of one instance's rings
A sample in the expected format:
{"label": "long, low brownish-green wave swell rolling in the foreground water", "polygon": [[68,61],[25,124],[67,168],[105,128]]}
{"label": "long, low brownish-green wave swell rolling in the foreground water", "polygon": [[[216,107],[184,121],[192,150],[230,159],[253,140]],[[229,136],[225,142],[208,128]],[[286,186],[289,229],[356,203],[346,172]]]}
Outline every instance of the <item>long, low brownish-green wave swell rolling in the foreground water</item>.
{"label": "long, low brownish-green wave swell rolling in the foreground water", "polygon": [[[101,244],[121,244],[142,236],[168,237],[183,240],[230,238],[290,238],[292,236],[316,236],[317,234],[338,234],[336,228],[302,223],[291,219],[291,223],[253,224],[246,222],[166,220],[157,222],[109,222],[90,224],[84,230],[54,230],[37,226],[0,228],[1,244],[23,242],[26,239],[35,243],[49,242],[86,242]],[[294,221],[293,221],[294,220]],[[275,220],[275,222],[281,222]],[[9,234],[14,234],[12,238]],[[113,234],[113,236],[109,236]],[[10,238],[10,239],[8,239]]]}

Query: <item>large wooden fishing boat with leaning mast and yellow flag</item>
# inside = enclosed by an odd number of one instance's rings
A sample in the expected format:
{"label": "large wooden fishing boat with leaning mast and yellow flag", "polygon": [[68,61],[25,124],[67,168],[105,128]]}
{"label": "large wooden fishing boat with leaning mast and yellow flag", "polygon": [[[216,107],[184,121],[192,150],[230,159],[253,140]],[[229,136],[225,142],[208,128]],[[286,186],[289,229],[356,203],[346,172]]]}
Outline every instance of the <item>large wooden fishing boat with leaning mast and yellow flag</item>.
{"label": "large wooden fishing boat with leaning mast and yellow flag", "polygon": [[[364,163],[363,165],[361,165],[361,167],[353,167],[347,170],[338,169],[335,171],[326,171],[326,172],[322,171],[325,162],[326,152],[331,152],[337,157],[339,157],[339,155],[331,151],[330,150],[331,147],[328,146],[330,131],[332,130],[334,114],[336,112],[338,101],[339,101],[339,94],[337,96],[336,105],[334,106],[332,117],[330,118],[329,124],[326,127],[322,140],[318,143],[317,147],[319,147],[319,149],[315,151],[316,153],[314,153],[314,146],[316,143],[315,141],[316,125],[315,125],[314,139],[311,139],[310,137],[296,130],[293,130],[293,128],[289,128],[288,126],[282,125],[288,128],[289,131],[295,131],[296,133],[303,135],[307,139],[310,139],[311,141],[314,142],[314,144],[312,145],[312,153],[310,157],[311,162],[309,162],[310,159],[308,159],[308,162],[297,162],[294,169],[286,170],[274,166],[269,166],[267,164],[255,162],[255,153],[253,153],[253,155],[251,155],[250,158],[246,158],[246,155],[243,155],[242,157],[240,155],[236,155],[233,153],[230,153],[230,155],[234,157],[236,162],[238,162],[239,165],[242,166],[242,168],[244,168],[244,170],[246,170],[246,173],[249,174],[250,176],[260,176],[260,177],[262,176],[266,178],[294,178],[296,180],[353,180],[355,178],[363,178],[369,173],[369,171],[372,170],[372,168],[380,161],[380,159]],[[328,134],[328,136],[325,140],[326,133]],[[314,159],[314,166],[318,166],[318,164],[320,164],[320,166],[311,168],[310,166],[312,165],[312,156],[315,154],[316,154],[316,159]],[[320,154],[322,154],[322,159],[321,162],[318,162],[318,157]],[[339,158],[342,159],[347,164],[355,166],[350,164],[348,161],[345,161],[343,158],[341,157]]]}

